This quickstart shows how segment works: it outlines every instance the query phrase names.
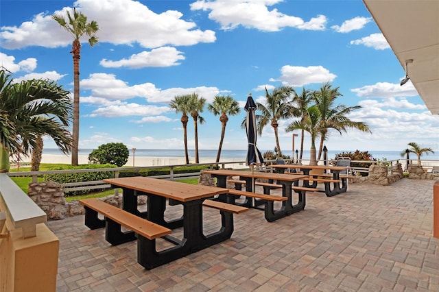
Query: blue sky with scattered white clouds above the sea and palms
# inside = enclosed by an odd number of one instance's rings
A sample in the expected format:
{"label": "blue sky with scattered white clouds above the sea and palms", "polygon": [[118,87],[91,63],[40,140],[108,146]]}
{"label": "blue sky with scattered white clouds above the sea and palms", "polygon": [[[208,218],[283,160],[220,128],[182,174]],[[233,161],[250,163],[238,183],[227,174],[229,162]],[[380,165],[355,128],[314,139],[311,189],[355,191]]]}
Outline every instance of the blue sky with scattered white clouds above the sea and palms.
{"label": "blue sky with scattered white clouds above the sea and palms", "polygon": [[[231,95],[244,107],[248,93],[263,101],[265,87],[300,91],[331,82],[340,104],[363,107],[350,118],[372,134],[331,133],[329,149],[399,151],[416,142],[439,150],[439,117],[411,82],[399,85],[404,69],[362,1],[2,0],[0,65],[14,80],[49,78],[73,92],[73,39],[51,19],[73,7],[99,24],[97,45],[82,38],[80,148],[183,149],[180,114],[169,109],[177,95],[195,92],[207,103]],[[199,147],[217,149],[219,117],[207,108],[201,115]],[[229,117],[223,149],[246,149],[244,117],[244,109]],[[290,121],[279,128],[285,153]],[[191,120],[188,140],[193,149]],[[270,126],[257,144],[274,148]],[[45,147],[55,144],[47,139]]]}

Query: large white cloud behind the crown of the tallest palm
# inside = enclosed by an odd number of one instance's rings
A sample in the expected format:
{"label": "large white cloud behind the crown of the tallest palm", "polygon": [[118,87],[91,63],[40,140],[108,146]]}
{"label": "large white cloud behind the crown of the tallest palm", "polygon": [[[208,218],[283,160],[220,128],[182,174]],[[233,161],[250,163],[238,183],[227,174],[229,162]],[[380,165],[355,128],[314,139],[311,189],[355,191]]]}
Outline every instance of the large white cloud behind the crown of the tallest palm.
{"label": "large white cloud behind the crown of the tallest palm", "polygon": [[[139,43],[145,48],[164,45],[195,45],[199,42],[215,42],[215,32],[202,31],[192,21],[185,21],[182,13],[167,10],[156,14],[138,1],[131,0],[78,0],[78,11],[83,12],[88,21],[97,21],[99,42],[116,45]],[[63,8],[54,13],[67,15],[71,8]],[[65,47],[71,45],[72,37],[51,14],[42,12],[17,26],[0,28],[0,43],[6,49],[27,46]],[[81,38],[86,42],[87,38]]]}

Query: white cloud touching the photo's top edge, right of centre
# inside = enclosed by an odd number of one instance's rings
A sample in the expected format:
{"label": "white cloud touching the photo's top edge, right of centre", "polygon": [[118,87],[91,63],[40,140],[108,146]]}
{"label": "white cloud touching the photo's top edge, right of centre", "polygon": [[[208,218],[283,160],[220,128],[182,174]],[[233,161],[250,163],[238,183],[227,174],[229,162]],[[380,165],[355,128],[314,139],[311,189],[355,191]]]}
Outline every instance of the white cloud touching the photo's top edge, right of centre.
{"label": "white cloud touching the photo's top edge, right of centre", "polygon": [[209,19],[217,21],[222,29],[235,29],[239,25],[256,28],[264,32],[277,32],[283,27],[298,29],[322,30],[327,19],[319,15],[309,22],[300,17],[289,16],[278,12],[276,8],[268,10],[268,6],[282,0],[236,1],[236,0],[198,0],[191,3],[191,10],[210,11]]}

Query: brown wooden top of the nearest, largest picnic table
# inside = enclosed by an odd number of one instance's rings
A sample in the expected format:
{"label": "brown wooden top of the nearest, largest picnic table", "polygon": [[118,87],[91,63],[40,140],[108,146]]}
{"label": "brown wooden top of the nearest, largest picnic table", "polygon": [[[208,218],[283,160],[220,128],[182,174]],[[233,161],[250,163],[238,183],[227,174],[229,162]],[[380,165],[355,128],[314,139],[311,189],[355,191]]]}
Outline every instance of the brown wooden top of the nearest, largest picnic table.
{"label": "brown wooden top of the nearest, largest picnic table", "polygon": [[143,176],[132,178],[108,178],[103,181],[107,184],[112,184],[113,186],[160,195],[169,199],[176,199],[180,202],[212,197],[213,195],[220,193],[228,193],[228,188],[203,186],[201,184],[185,184],[183,182],[159,180],[157,178],[146,178]]}

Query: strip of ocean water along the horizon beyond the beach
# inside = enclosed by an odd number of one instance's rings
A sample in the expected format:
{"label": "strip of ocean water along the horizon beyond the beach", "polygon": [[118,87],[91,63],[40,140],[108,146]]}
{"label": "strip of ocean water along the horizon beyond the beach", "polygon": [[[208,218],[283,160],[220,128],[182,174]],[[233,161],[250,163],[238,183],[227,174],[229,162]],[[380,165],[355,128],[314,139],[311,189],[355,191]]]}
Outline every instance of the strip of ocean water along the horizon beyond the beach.
{"label": "strip of ocean water along the horizon beyond the beach", "polygon": [[[93,151],[93,149],[80,149],[79,155],[86,155],[90,154],[90,152]],[[261,153],[264,153],[267,150],[260,149]],[[355,150],[329,150],[328,151],[328,158],[333,159],[335,158],[335,154],[340,154],[342,152],[355,152]],[[283,151],[285,155],[292,156],[292,151]],[[369,151],[369,154],[372,155],[373,158],[383,160],[383,158],[386,158],[387,160],[405,160],[405,156],[401,157],[400,155],[401,151]],[[61,155],[62,151],[59,149],[54,148],[48,148],[43,149],[43,154],[56,154]],[[217,149],[200,149],[198,151],[200,158],[213,158],[215,159],[217,157]],[[130,149],[130,155],[132,155],[132,151]],[[247,150],[246,149],[224,149],[221,151],[221,160],[225,160],[226,158],[230,159],[239,159],[242,158],[242,160],[246,159]],[[185,150],[184,149],[136,149],[135,152],[136,157],[178,157],[178,158],[184,158],[185,157]],[[194,158],[195,157],[195,151],[193,149],[189,150],[189,157]],[[416,159],[415,154],[410,154],[410,159]],[[423,155],[423,159],[428,160],[439,160],[438,154],[434,155]],[[309,150],[303,151],[303,159],[307,160],[309,159]]]}

